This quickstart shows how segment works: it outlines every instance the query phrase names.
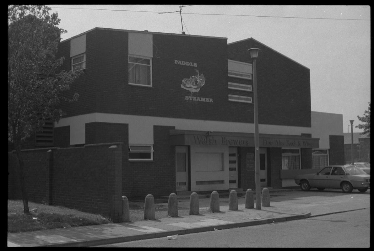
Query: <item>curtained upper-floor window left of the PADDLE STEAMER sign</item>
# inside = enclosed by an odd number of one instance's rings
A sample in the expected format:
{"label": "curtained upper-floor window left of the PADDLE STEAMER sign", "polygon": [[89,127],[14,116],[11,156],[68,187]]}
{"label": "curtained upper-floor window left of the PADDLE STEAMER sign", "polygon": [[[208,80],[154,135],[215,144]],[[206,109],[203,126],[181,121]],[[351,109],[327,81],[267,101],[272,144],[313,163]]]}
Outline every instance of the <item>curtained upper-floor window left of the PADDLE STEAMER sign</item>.
{"label": "curtained upper-floor window left of the PADDLE STEAMER sign", "polygon": [[152,86],[152,59],[129,55],[129,84]]}

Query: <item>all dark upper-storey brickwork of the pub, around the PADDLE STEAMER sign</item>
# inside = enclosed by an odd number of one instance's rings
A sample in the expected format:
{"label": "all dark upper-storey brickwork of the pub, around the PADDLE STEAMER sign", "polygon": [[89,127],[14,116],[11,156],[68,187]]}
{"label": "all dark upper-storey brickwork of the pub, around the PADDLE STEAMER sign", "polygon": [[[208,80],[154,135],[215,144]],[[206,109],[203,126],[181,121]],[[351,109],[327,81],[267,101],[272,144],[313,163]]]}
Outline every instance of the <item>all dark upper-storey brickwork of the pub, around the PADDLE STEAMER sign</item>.
{"label": "all dark upper-storey brickwork of the pub, around the PADDLE STEAMER sign", "polygon": [[[227,76],[226,39],[153,34],[153,41],[150,42],[153,43],[153,86],[131,86],[128,85],[126,70],[128,33],[99,29],[88,32],[85,74],[71,85],[69,91],[71,94],[78,92],[80,97],[77,102],[62,106],[67,113],[66,117],[103,112],[253,123],[252,116],[248,116],[253,113],[253,105],[228,100],[229,93],[243,93],[236,90],[229,92],[227,87],[227,81],[233,79]],[[70,58],[70,42],[62,42],[60,46],[61,55]],[[273,57],[273,54],[266,56]],[[197,63],[197,67],[175,64],[175,60]],[[273,61],[269,58],[266,60]],[[271,83],[261,84],[263,92],[259,94],[259,100],[261,99],[263,115],[261,117],[259,112],[260,123],[298,126],[302,123],[300,121],[306,121],[305,123],[310,125],[310,102],[309,116],[308,112],[304,112],[308,108],[308,100],[310,101],[310,92],[306,90],[310,89],[309,71],[303,71],[303,67],[300,70],[298,64],[289,59],[285,60],[285,57],[278,56],[274,59],[276,60],[280,61],[278,65],[287,65],[277,69],[274,74],[262,70],[261,76],[266,76],[263,82],[271,80]],[[266,66],[266,63],[264,65]],[[291,69],[288,69],[288,66]],[[69,60],[65,60],[64,68],[70,69]],[[181,81],[195,75],[195,69],[205,76],[206,81],[199,92],[191,94],[181,88]],[[273,68],[266,68],[266,71],[270,70],[273,71]],[[285,74],[284,71],[288,74],[279,77],[280,72]],[[280,80],[282,83],[279,83]],[[238,80],[235,79],[235,82]],[[252,84],[251,80],[246,80],[246,83],[248,82]],[[272,92],[270,96],[269,91]],[[306,93],[309,93],[309,96],[305,96]],[[246,92],[247,94],[252,95]],[[186,100],[186,96],[205,97],[213,102]],[[302,106],[299,105],[300,100],[303,100]],[[274,115],[279,118],[272,120]]]}

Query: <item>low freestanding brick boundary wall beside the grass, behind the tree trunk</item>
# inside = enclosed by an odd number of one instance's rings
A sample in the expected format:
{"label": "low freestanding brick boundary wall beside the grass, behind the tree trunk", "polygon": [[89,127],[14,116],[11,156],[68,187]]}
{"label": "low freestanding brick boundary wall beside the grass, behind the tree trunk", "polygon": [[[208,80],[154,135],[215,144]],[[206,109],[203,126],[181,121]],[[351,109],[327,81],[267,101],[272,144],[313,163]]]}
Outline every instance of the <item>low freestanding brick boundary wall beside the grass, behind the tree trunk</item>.
{"label": "low freestanding brick boundary wall beside the grass, behind the tree trunk", "polygon": [[[29,201],[118,220],[122,215],[122,144],[111,145],[22,151]],[[14,155],[8,155],[8,199],[21,199]]]}

